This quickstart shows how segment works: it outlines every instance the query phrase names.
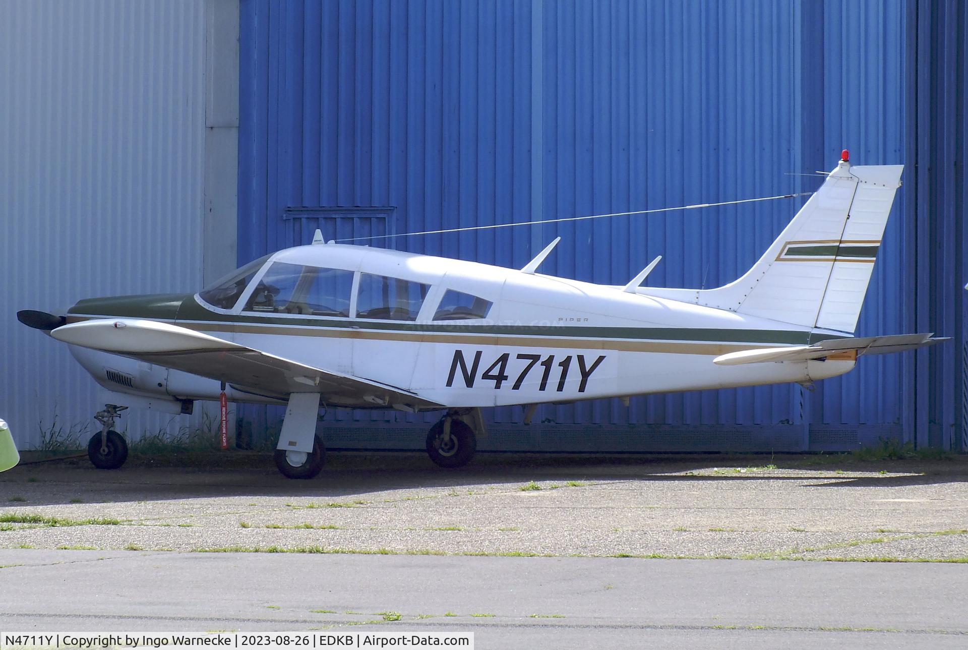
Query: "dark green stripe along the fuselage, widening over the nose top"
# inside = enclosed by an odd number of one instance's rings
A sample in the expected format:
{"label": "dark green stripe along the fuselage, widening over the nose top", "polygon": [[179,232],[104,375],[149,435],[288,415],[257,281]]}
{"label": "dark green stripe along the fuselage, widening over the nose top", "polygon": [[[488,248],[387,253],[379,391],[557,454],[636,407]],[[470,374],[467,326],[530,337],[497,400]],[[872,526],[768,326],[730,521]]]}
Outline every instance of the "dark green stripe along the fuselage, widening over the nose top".
{"label": "dark green stripe along the fuselage, widening over the nose top", "polygon": [[193,294],[121,295],[80,300],[70,314],[117,316],[161,321],[208,322],[235,325],[286,325],[329,329],[371,329],[417,333],[554,336],[590,339],[696,341],[709,343],[765,343],[812,345],[846,335],[791,329],[734,329],[720,327],[600,327],[576,325],[461,325],[457,323],[386,323],[366,319],[284,318],[268,314],[220,314],[198,304]]}

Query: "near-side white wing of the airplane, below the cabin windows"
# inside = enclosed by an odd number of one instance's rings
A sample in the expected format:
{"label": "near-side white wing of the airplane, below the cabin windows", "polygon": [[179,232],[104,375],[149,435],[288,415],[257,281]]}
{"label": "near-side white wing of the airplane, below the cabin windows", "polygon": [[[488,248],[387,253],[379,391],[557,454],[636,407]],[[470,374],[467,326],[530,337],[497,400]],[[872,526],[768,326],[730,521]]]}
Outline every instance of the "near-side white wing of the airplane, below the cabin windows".
{"label": "near-side white wing of the airplane, below the cabin windows", "polygon": [[405,388],[322,370],[157,321],[84,321],[57,327],[50,335],[72,345],[130,356],[284,399],[293,392],[318,392],[332,401],[363,406],[441,408]]}

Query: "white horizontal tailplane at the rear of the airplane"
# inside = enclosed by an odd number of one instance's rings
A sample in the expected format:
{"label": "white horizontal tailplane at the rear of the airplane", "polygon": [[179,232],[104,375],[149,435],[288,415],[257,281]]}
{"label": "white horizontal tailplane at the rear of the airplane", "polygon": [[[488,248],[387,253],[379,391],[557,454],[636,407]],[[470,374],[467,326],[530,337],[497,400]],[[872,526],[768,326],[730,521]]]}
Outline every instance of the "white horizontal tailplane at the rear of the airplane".
{"label": "white horizontal tailplane at the rear of the airplane", "polygon": [[868,336],[866,338],[840,338],[821,341],[816,345],[787,348],[743,350],[712,359],[716,365],[742,365],[744,363],[767,363],[775,361],[807,361],[818,358],[854,359],[861,355],[887,355],[905,350],[917,350],[948,338],[933,334],[895,334],[892,336]]}

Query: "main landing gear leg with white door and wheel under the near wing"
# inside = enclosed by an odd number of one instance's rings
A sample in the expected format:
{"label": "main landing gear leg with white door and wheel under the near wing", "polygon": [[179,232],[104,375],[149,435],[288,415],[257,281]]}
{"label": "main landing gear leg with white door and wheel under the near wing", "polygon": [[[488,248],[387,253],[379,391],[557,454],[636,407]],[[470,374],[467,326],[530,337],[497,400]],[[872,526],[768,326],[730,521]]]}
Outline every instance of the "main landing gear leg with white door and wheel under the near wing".
{"label": "main landing gear leg with white door and wheel under the near wing", "polygon": [[276,467],[289,479],[312,479],[322,470],[326,448],[316,435],[318,413],[318,392],[289,395],[275,457]]}

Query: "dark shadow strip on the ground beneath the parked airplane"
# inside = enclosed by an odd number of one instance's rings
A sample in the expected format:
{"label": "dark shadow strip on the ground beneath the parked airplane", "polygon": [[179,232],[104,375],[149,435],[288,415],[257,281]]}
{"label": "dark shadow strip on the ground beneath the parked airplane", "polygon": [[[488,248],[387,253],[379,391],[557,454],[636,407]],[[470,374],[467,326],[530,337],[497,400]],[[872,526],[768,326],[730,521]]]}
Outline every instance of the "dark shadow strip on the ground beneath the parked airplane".
{"label": "dark shadow strip on the ground beneath the parked airplane", "polygon": [[[268,456],[266,456],[266,459]],[[701,456],[564,455],[481,453],[466,468],[444,470],[414,452],[333,452],[322,474],[314,480],[288,480],[271,460],[257,467],[157,467],[132,464],[120,470],[99,471],[86,460],[28,464],[0,476],[0,512],[35,506],[77,503],[126,503],[206,497],[289,497],[293,503],[325,506],[341,501],[367,500],[372,492],[447,489],[456,496],[473,493],[481,485],[520,489],[535,481],[542,489],[584,484],[709,483],[728,481],[797,481],[804,487],[905,487],[968,480],[968,458],[925,462],[848,462],[831,457],[820,465],[816,457],[712,454]],[[783,474],[797,470],[796,474]],[[807,470],[811,474],[803,474]],[[886,472],[884,476],[849,476]],[[833,474],[834,472],[839,472]],[[841,474],[843,476],[841,476]],[[821,481],[821,482],[816,482]],[[383,497],[392,501],[405,499]],[[17,497],[22,497],[20,501]]]}

